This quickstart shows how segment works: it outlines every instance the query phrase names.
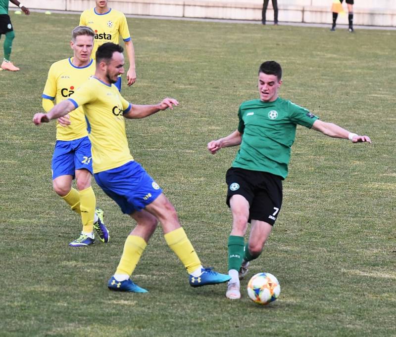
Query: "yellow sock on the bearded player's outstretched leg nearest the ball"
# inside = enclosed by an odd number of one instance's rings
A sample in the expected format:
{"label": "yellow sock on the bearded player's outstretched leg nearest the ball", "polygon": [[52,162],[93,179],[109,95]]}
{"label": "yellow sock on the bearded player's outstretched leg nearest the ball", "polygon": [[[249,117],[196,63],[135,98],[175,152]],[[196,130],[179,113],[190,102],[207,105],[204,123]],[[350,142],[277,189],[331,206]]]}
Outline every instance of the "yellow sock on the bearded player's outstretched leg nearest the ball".
{"label": "yellow sock on the bearded player's outstretched leg nearest the ball", "polygon": [[201,265],[199,257],[183,227],[166,233],[164,238],[169,248],[175,252],[180,261],[182,261],[189,274]]}

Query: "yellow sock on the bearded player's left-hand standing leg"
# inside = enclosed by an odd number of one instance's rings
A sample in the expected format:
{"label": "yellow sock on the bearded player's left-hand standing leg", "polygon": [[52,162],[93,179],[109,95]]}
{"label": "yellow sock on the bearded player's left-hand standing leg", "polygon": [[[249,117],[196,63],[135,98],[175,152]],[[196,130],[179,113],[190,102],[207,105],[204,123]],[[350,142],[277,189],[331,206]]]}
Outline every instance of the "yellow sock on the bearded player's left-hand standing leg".
{"label": "yellow sock on the bearded player's left-hand standing leg", "polygon": [[129,235],[125,240],[124,252],[122,253],[115,274],[127,274],[131,276],[146,246],[146,241],[140,236]]}

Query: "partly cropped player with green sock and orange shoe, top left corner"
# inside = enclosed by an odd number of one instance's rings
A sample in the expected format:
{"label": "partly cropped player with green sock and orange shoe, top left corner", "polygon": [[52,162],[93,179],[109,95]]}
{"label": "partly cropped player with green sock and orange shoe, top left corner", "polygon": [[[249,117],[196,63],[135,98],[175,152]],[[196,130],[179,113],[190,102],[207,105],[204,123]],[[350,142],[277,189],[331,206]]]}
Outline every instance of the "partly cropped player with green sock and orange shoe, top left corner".
{"label": "partly cropped player with green sock and orange shoe, top left corner", "polygon": [[[30,14],[29,9],[26,8],[18,0],[9,1],[21,8],[26,15]],[[0,70],[18,71],[19,68],[15,67],[14,64],[10,61],[12,41],[15,38],[15,33],[11,24],[11,19],[8,15],[8,0],[0,0],[0,39],[2,34],[5,35],[5,40],[3,44],[4,59],[1,63]]]}

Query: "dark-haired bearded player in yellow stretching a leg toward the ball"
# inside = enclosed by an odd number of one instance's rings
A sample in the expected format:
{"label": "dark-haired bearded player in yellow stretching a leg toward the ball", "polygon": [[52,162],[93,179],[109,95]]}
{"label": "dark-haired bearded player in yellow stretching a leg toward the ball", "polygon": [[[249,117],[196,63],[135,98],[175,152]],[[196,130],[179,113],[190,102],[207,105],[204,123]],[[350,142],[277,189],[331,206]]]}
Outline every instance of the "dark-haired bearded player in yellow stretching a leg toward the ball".
{"label": "dark-haired bearded player in yellow stretching a leg toward the ball", "polygon": [[187,238],[175,208],[162,193],[158,184],[131,156],[125,131],[125,118],[145,118],[158,111],[173,109],[177,100],[165,98],[154,105],[128,103],[113,85],[117,76],[124,73],[123,48],[104,43],[96,53],[95,77],[69,99],[55,105],[48,114],[38,113],[33,123],[40,125],[59,118],[83,106],[91,126],[94,176],[102,190],[112,198],[123,213],[136,220],[124,245],[124,252],[115,274],[108,281],[110,290],[146,293],[147,290],[130,280],[158,220],[165,241],[179,257],[189,273],[192,287],[223,283],[228,275],[211,268],[203,268],[190,240]]}

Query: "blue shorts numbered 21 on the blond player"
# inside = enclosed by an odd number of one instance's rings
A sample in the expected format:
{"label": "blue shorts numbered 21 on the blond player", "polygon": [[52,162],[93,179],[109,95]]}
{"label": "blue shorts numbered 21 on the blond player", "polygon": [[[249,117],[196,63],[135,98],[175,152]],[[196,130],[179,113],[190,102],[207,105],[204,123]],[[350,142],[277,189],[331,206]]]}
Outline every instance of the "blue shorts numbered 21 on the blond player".
{"label": "blue shorts numbered 21 on the blond player", "polygon": [[75,177],[76,169],[88,169],[91,174],[91,141],[88,136],[75,140],[57,140],[52,156],[52,180],[60,175]]}

